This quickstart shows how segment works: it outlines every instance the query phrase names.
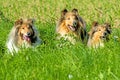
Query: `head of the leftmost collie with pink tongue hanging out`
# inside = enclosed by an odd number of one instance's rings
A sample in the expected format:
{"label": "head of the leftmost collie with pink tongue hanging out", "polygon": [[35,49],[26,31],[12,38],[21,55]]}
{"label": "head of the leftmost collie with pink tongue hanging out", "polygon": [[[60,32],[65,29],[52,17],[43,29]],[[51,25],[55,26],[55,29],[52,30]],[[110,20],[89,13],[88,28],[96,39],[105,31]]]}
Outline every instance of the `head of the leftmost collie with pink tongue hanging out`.
{"label": "head of the leftmost collie with pink tongue hanging out", "polygon": [[34,36],[34,20],[33,19],[19,19],[15,22],[16,35],[20,36],[22,40],[31,41],[31,38]]}

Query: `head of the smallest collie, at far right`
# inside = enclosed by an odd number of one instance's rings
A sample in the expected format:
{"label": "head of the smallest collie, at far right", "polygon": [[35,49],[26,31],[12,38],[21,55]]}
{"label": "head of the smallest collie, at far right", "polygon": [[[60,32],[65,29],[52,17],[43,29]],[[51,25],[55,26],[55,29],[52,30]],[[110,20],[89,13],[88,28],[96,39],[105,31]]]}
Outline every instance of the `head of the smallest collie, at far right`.
{"label": "head of the smallest collie, at far right", "polygon": [[100,39],[108,39],[109,34],[111,34],[111,25],[109,23],[100,25],[98,22],[93,22],[92,29],[89,33],[90,36],[97,36]]}

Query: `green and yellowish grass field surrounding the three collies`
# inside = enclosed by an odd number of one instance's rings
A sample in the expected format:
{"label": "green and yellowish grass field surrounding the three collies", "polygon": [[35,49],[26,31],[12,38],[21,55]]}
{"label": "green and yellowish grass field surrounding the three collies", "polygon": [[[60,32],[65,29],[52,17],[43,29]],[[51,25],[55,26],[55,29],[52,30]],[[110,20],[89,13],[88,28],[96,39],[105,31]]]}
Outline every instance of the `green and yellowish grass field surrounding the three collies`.
{"label": "green and yellowish grass field surrounding the three collies", "polygon": [[[120,0],[0,0],[0,80],[120,80]],[[110,22],[104,48],[55,40],[62,9],[77,8],[87,22]],[[43,44],[7,54],[6,39],[14,21],[35,18]],[[119,27],[119,28],[114,28]],[[118,36],[118,39],[114,39]],[[64,43],[64,47],[56,44]]]}

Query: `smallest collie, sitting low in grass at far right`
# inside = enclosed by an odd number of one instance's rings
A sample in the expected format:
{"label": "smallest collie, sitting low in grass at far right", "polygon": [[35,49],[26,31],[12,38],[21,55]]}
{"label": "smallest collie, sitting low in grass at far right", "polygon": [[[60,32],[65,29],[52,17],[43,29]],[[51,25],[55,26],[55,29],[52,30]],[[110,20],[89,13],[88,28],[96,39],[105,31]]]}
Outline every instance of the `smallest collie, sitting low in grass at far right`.
{"label": "smallest collie, sitting low in grass at far right", "polygon": [[93,22],[92,28],[88,34],[88,47],[104,47],[104,41],[108,41],[109,35],[111,34],[111,25],[109,23],[100,25],[98,22]]}

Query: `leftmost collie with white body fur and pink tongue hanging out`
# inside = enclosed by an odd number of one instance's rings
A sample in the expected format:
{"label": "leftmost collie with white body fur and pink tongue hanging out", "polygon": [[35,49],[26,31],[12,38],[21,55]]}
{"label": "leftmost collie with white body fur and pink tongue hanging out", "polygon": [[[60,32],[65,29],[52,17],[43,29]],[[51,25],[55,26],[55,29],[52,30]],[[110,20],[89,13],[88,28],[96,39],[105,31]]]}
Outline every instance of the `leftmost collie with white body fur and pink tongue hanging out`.
{"label": "leftmost collie with white body fur and pink tongue hanging out", "polygon": [[22,48],[36,46],[41,43],[33,19],[19,19],[15,22],[7,40],[10,53],[18,52]]}

